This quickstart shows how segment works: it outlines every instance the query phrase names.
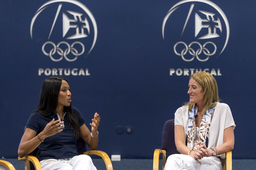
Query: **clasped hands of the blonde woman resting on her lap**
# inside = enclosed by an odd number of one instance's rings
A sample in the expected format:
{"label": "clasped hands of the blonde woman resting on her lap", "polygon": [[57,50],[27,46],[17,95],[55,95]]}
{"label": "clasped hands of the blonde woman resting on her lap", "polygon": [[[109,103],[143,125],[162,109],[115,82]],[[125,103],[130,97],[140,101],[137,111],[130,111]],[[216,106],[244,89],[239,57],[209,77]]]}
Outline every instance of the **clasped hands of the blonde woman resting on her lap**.
{"label": "clasped hands of the blonde woman resting on her lap", "polygon": [[202,159],[203,157],[212,156],[212,150],[207,149],[204,142],[202,142],[202,141],[197,142],[196,143],[196,148],[197,148],[196,150],[191,151],[189,153],[189,156],[191,156],[195,160]]}

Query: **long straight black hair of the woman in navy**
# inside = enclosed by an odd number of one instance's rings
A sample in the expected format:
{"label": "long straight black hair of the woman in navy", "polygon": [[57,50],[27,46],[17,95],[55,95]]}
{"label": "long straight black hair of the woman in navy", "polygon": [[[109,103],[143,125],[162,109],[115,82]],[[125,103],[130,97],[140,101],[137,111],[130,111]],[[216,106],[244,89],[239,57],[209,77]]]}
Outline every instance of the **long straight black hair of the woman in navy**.
{"label": "long straight black hair of the woman in navy", "polygon": [[[39,100],[38,109],[35,111],[39,112],[41,115],[47,116],[55,112],[58,105],[58,96],[60,92],[60,87],[62,80],[67,79],[64,77],[49,77],[47,78],[41,89],[41,95]],[[79,137],[80,126],[76,117],[76,114],[72,111],[71,103],[69,107],[64,106],[63,109],[66,112],[66,118],[73,126],[73,134],[76,138]]]}

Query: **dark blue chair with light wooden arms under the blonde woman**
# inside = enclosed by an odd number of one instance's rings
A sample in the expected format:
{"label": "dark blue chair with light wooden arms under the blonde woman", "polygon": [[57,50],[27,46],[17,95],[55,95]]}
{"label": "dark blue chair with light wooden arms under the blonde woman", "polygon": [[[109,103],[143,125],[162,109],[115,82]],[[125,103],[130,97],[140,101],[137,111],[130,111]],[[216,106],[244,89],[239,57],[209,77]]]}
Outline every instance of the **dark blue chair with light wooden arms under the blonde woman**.
{"label": "dark blue chair with light wooden arms under the blonde woman", "polygon": [[[174,141],[174,119],[168,120],[164,124],[161,149],[155,149],[153,170],[158,170],[159,167],[159,155],[163,154],[163,169],[168,156],[179,153],[175,146]],[[222,170],[232,170],[232,152],[226,153],[226,159],[222,159]]]}

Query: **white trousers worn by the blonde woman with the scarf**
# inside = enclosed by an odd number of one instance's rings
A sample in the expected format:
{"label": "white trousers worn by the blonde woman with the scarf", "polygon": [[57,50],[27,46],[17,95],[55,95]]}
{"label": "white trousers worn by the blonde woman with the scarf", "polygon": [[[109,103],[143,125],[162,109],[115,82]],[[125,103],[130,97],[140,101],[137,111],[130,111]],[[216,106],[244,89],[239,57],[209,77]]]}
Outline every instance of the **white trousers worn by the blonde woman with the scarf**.
{"label": "white trousers worn by the blonde woman with the scarf", "polygon": [[164,170],[222,170],[220,159],[217,157],[203,157],[195,160],[191,156],[173,154],[167,158]]}

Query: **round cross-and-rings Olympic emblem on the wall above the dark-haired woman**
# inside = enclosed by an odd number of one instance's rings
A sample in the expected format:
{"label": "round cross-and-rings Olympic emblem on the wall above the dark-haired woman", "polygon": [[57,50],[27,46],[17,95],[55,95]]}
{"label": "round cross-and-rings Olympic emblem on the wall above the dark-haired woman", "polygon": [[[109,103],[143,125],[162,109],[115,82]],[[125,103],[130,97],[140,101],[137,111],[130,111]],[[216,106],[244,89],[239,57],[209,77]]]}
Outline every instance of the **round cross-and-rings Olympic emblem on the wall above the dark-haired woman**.
{"label": "round cross-and-rings Olympic emblem on the wall above the dark-haired woman", "polygon": [[30,36],[42,45],[52,61],[75,61],[87,56],[97,39],[97,24],[91,11],[76,0],[51,0],[35,13]]}

